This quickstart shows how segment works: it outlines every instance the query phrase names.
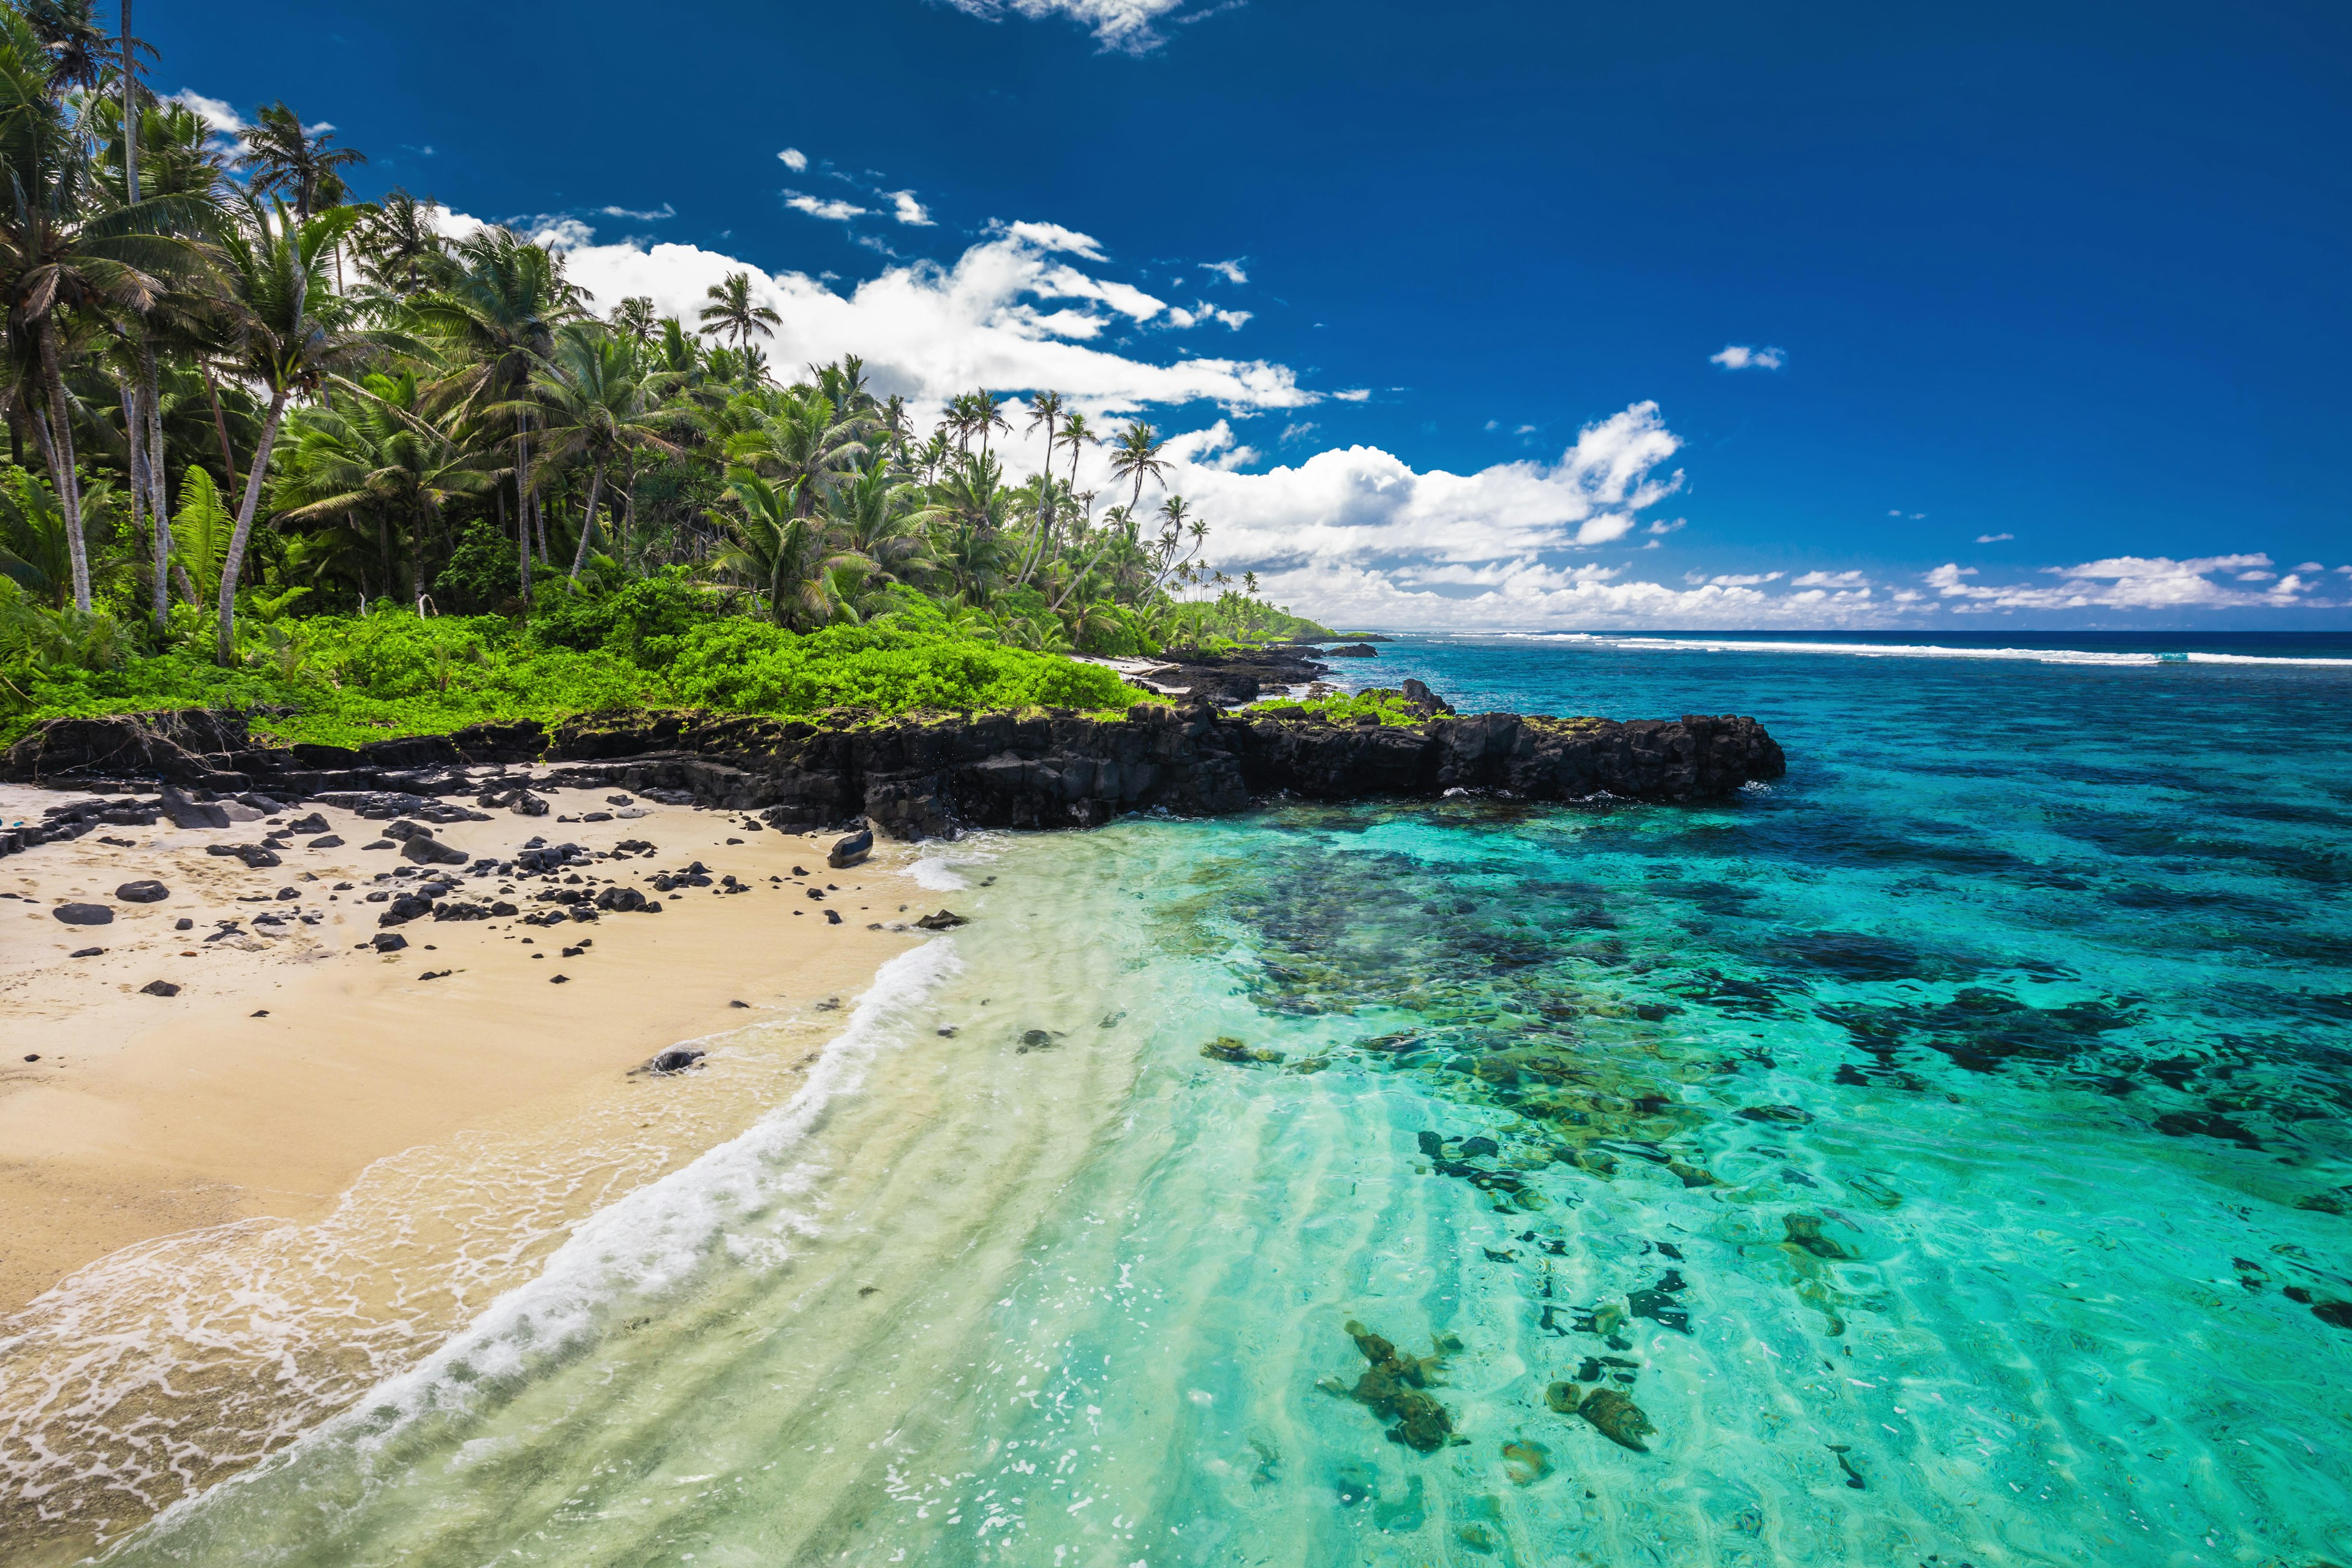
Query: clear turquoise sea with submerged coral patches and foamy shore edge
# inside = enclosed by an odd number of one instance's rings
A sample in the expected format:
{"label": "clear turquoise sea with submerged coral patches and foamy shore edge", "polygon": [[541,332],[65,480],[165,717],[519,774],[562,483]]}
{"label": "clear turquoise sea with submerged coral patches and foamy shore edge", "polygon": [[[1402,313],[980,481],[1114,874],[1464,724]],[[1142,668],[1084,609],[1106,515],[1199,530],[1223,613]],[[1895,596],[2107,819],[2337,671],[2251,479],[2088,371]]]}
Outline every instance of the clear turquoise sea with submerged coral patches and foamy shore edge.
{"label": "clear turquoise sea with submerged coral patches and foamy shore edge", "polygon": [[2352,646],[1780,642],[1350,668],[1752,712],[1731,804],[962,846],[793,1103],[120,1561],[2352,1559]]}

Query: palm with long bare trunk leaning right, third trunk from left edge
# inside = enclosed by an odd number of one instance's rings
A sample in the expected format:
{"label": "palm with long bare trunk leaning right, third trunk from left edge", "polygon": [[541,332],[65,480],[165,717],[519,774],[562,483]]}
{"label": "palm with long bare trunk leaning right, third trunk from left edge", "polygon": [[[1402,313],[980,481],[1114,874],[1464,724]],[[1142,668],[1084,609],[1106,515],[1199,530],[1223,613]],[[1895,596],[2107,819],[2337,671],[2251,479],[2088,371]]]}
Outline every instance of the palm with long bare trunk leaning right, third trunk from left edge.
{"label": "palm with long bare trunk leaning right, third trunk from left edge", "polygon": [[[240,223],[221,242],[228,299],[238,313],[230,364],[270,395],[261,440],[245,475],[238,527],[221,562],[216,651],[223,665],[235,656],[238,574],[245,567],[245,545],[254,536],[254,512],[261,508],[261,484],[268,477],[270,447],[278,442],[287,400],[315,390],[367,348],[365,336],[343,329],[339,301],[325,277],[334,247],[358,221],[358,207],[329,207],[310,221],[299,221],[285,207],[263,212],[256,205],[249,223]],[[320,308],[318,301],[329,303]]]}

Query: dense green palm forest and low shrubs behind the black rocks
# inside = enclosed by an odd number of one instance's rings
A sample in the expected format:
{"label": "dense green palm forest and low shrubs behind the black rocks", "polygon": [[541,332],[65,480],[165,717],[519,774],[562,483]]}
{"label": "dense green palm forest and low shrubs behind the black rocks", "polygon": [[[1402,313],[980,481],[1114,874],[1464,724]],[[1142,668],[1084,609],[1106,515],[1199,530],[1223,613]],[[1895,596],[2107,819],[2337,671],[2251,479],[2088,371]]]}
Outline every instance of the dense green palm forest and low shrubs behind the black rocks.
{"label": "dense green palm forest and low shrubs behind the black rocks", "polygon": [[743,273],[691,320],[595,301],[560,249],[358,200],[282,101],[226,141],[122,12],[0,2],[0,736],[1112,710],[1068,654],[1322,635],[1209,564],[1141,418],[976,388],[917,433],[856,357],[781,369]]}

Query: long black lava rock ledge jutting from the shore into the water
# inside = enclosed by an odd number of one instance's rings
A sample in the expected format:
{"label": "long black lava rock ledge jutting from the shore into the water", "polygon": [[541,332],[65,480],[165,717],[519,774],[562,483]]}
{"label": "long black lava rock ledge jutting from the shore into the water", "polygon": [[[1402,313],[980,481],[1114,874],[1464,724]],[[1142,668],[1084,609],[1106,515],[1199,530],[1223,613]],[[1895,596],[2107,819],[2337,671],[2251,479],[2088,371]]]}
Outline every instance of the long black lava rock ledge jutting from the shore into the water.
{"label": "long black lava rock ledge jutting from the shore into the water", "polygon": [[[1423,701],[1425,698],[1425,701]],[[621,712],[376,741],[358,750],[254,743],[235,715],[52,719],[19,741],[19,783],[212,792],[226,802],[318,799],[372,813],[463,816],[456,795],[520,790],[513,764],[555,764],[555,783],[755,811],[776,827],[866,818],[894,837],[960,827],[1091,827],[1127,811],[1218,816],[1251,802],[1437,797],[1719,799],[1785,771],[1780,748],[1743,717],[1550,719],[1454,715],[1423,686],[1421,724],[1138,705],[811,724],[701,712]],[[485,769],[492,773],[485,776]],[[136,802],[106,811],[136,811]],[[153,809],[153,806],[148,806]],[[78,813],[82,809],[75,809]],[[82,818],[73,823],[82,827]],[[40,832],[40,830],[33,830]],[[71,832],[71,830],[68,830]],[[68,835],[56,835],[68,837]],[[414,839],[412,839],[414,842]]]}

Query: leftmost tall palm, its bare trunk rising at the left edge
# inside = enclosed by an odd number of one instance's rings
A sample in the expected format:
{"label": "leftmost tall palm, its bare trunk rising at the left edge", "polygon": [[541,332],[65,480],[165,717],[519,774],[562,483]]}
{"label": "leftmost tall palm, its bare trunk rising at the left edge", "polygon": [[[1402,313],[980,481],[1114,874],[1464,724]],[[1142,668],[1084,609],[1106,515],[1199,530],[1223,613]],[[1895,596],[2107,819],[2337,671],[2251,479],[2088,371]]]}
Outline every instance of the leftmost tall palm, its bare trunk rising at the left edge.
{"label": "leftmost tall palm, its bare trunk rising at the left edge", "polygon": [[[71,7],[66,7],[71,12]],[[146,310],[162,277],[205,270],[183,237],[205,214],[188,197],[113,205],[96,188],[85,141],[49,96],[52,56],[33,26],[0,9],[0,294],[7,343],[40,393],[28,423],[66,515],[75,609],[89,609],[89,552],[73,454],[73,404],[61,364],[68,315]],[[31,390],[31,388],[26,388]],[[26,400],[31,402],[31,400]]]}

